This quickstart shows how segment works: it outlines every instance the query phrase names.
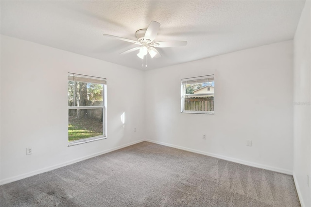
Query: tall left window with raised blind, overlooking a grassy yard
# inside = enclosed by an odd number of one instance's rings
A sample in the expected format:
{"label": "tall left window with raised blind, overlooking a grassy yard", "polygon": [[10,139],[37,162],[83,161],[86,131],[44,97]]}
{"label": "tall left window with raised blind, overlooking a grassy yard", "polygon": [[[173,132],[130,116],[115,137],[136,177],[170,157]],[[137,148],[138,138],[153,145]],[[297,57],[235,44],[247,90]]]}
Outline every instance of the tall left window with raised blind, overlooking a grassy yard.
{"label": "tall left window with raised blind, overlooking a grassy yard", "polygon": [[106,79],[68,74],[69,146],[106,138]]}

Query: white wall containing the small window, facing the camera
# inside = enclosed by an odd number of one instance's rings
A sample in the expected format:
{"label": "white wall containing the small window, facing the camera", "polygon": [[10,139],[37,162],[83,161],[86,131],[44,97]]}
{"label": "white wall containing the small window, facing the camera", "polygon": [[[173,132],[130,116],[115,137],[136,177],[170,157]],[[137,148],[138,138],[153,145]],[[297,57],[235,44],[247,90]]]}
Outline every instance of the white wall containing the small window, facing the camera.
{"label": "white wall containing the small window, facing the camera", "polygon": [[[180,113],[180,79],[210,74],[215,114]],[[292,40],[147,71],[145,90],[146,138],[293,172]]]}

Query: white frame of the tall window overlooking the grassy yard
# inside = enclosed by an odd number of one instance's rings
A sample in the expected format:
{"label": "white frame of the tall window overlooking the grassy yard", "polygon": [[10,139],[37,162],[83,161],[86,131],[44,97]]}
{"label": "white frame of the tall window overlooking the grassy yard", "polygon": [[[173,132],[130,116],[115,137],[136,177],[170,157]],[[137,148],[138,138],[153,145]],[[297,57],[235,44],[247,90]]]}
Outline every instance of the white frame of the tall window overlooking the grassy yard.
{"label": "white frame of the tall window overlooking the grassy yard", "polygon": [[[81,74],[76,74],[76,73],[68,73],[68,81],[103,84],[103,106],[68,106],[68,111],[70,109],[102,108],[103,109],[103,135],[91,137],[91,138],[79,139],[79,140],[70,141],[70,142],[68,141],[68,146],[70,147],[70,146],[74,146],[78,144],[84,144],[87,142],[92,142],[92,141],[97,141],[97,140],[107,138],[107,79],[94,77],[94,76],[88,76],[88,75],[81,75]],[[68,137],[67,137],[67,140],[68,140]]]}

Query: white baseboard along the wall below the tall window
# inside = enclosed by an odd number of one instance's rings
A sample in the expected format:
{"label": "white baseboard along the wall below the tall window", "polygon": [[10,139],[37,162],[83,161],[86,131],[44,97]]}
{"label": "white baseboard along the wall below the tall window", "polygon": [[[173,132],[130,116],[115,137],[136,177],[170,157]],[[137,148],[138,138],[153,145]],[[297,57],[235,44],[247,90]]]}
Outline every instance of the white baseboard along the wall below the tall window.
{"label": "white baseboard along the wall below the tall window", "polygon": [[131,146],[133,144],[137,144],[137,143],[142,142],[142,141],[145,141],[145,140],[141,139],[141,140],[130,142],[128,144],[123,144],[121,146],[114,147],[114,148],[111,148],[111,149],[108,149],[108,150],[104,150],[104,151],[99,152],[99,153],[94,153],[92,155],[87,155],[87,156],[84,156],[84,157],[80,157],[78,159],[73,159],[73,160],[70,160],[70,161],[67,161],[67,162],[63,162],[63,163],[60,163],[60,164],[57,164],[57,165],[53,165],[53,166],[50,166],[50,167],[46,167],[46,168],[42,168],[42,169],[39,169],[39,170],[35,170],[35,171],[30,172],[30,173],[24,173],[24,174],[21,174],[21,175],[9,177],[9,178],[0,180],[0,185],[11,183],[11,182],[14,182],[14,181],[17,181],[17,180],[20,180],[20,179],[24,179],[26,177],[31,177],[31,176],[36,175],[36,174],[52,171],[52,170],[55,170],[57,168],[64,167],[66,165],[70,165],[70,164],[73,164],[73,163],[76,163],[76,162],[80,162],[82,160],[86,160],[86,159],[89,159],[89,158],[92,158],[92,157],[95,157],[95,156],[98,156],[98,155],[103,155],[103,154],[106,154],[106,153],[109,153],[109,152],[112,152],[112,151],[115,151],[115,150],[119,150],[121,148],[128,147],[128,146]]}

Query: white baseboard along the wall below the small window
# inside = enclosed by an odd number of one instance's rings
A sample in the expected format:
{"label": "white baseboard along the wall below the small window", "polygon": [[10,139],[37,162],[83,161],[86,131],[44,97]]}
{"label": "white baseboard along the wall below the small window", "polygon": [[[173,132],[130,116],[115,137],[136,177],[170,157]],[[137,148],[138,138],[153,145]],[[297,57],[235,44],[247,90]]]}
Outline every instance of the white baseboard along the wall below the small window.
{"label": "white baseboard along the wall below the small window", "polygon": [[227,156],[223,156],[223,155],[216,155],[216,154],[213,154],[213,153],[207,153],[207,152],[200,151],[200,150],[194,150],[194,149],[190,149],[190,148],[187,148],[187,147],[181,147],[181,146],[178,146],[178,145],[168,144],[168,143],[165,143],[165,142],[154,141],[154,140],[150,140],[150,139],[146,139],[145,141],[153,142],[155,144],[161,144],[161,145],[168,146],[168,147],[173,147],[173,148],[180,149],[180,150],[189,151],[189,152],[192,152],[192,153],[198,153],[198,154],[202,154],[202,155],[208,155],[208,156],[216,157],[216,158],[219,158],[219,159],[225,159],[227,161],[236,162],[236,163],[240,163],[240,164],[243,164],[243,165],[248,165],[248,166],[252,166],[252,167],[256,167],[256,168],[261,168],[261,169],[265,169],[265,170],[269,170],[269,171],[274,171],[274,172],[277,172],[277,173],[284,173],[284,174],[293,175],[293,172],[289,171],[289,170],[285,170],[285,169],[281,169],[281,168],[276,168],[276,167],[272,167],[272,166],[268,166],[268,165],[262,165],[262,164],[258,164],[258,163],[255,163],[255,162],[249,162],[249,161],[245,161],[245,160],[242,160],[242,159],[236,159],[236,158],[227,157]]}

